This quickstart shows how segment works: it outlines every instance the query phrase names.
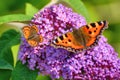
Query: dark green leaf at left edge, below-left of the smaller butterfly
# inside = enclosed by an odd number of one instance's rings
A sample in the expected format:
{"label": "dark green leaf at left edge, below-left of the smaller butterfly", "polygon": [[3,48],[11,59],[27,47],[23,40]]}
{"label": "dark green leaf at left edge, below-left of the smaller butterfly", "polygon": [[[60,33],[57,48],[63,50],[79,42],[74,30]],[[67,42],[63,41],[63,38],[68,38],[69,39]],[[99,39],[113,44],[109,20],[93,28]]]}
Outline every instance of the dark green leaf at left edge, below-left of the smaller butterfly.
{"label": "dark green leaf at left edge, below-left of the smaller butterfly", "polygon": [[0,37],[0,58],[6,60],[13,66],[11,46],[20,43],[20,33],[15,30],[8,30]]}

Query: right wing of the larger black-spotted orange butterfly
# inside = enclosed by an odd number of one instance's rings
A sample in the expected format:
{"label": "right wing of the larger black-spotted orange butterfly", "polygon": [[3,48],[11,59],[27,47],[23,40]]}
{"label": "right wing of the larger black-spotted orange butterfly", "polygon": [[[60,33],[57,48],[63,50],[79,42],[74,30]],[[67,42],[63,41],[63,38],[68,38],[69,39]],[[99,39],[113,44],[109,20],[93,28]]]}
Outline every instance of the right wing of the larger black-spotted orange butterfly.
{"label": "right wing of the larger black-spotted orange butterfly", "polygon": [[81,30],[83,33],[85,46],[90,47],[92,45],[95,45],[102,31],[107,27],[108,27],[107,21],[90,23],[88,25],[81,27],[79,30]]}

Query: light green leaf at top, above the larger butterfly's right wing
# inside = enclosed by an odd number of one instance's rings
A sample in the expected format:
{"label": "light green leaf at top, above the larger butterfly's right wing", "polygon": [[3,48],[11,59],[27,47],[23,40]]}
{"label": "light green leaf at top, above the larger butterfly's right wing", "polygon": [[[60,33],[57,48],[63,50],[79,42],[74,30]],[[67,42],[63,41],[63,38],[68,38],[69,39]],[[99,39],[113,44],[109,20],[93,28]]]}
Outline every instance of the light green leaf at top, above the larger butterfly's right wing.
{"label": "light green leaf at top, above the larger butterfly's right wing", "polygon": [[66,2],[74,11],[83,15],[87,22],[90,22],[90,16],[87,12],[87,9],[81,0],[62,0]]}

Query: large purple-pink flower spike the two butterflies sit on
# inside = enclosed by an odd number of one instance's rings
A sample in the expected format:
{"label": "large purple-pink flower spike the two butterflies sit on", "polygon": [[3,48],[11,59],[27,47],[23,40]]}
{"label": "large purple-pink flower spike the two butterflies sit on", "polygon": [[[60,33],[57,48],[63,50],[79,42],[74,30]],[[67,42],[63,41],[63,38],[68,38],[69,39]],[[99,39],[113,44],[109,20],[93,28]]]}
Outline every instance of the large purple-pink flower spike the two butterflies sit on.
{"label": "large purple-pink flower spike the two butterflies sit on", "polygon": [[40,74],[50,75],[52,79],[120,80],[120,59],[104,36],[97,46],[78,54],[50,46],[55,37],[86,25],[85,18],[71,8],[53,5],[35,14],[33,23],[44,40],[31,47],[22,37],[19,51],[19,60],[31,70],[39,69]]}

